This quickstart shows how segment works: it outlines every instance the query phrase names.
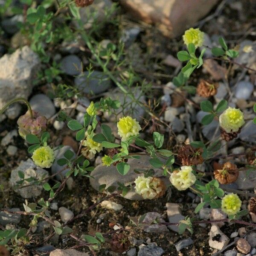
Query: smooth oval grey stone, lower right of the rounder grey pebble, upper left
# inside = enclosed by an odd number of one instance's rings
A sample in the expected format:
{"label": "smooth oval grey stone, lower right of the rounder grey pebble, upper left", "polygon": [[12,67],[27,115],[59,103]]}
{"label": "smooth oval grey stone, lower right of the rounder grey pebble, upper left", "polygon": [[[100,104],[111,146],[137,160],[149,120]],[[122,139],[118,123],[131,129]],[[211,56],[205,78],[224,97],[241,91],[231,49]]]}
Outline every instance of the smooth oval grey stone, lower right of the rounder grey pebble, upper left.
{"label": "smooth oval grey stone, lower right of the rounder grey pebble, upper left", "polygon": [[104,73],[94,70],[89,77],[88,75],[89,72],[85,71],[75,78],[76,86],[84,93],[99,94],[111,87],[111,81]]}

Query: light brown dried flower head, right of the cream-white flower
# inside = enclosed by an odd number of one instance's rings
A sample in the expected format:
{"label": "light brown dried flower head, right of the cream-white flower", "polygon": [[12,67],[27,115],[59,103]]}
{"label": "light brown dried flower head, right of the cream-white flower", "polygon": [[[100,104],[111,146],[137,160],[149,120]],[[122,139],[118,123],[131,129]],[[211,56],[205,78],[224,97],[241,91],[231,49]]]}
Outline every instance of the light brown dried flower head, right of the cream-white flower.
{"label": "light brown dried flower head, right of the cream-white flower", "polygon": [[222,169],[214,171],[214,178],[221,184],[234,183],[239,177],[239,170],[233,163],[224,163]]}

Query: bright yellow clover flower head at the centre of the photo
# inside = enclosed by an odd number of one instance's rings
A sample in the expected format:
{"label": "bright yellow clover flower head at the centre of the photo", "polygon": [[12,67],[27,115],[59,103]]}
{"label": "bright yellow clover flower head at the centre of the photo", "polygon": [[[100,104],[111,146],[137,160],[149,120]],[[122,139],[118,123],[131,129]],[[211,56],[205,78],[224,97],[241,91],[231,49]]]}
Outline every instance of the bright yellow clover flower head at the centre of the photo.
{"label": "bright yellow clover flower head at the centre of the photo", "polygon": [[131,116],[124,116],[117,122],[118,134],[122,140],[126,140],[131,136],[139,135],[141,127],[136,119],[132,119]]}

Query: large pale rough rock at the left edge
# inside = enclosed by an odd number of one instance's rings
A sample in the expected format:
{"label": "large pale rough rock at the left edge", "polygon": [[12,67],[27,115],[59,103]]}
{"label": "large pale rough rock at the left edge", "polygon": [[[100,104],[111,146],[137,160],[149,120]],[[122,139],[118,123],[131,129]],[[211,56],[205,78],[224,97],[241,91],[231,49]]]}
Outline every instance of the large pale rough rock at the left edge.
{"label": "large pale rough rock at the left edge", "polygon": [[28,98],[39,63],[38,55],[27,46],[0,58],[0,108],[11,99]]}

